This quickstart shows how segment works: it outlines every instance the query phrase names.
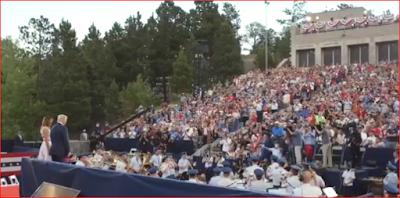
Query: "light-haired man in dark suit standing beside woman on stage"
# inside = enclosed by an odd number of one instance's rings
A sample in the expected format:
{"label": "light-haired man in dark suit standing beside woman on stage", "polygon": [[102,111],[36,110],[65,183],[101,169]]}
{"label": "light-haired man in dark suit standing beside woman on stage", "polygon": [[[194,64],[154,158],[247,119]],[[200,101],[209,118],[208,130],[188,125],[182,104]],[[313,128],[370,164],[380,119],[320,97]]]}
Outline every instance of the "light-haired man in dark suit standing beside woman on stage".
{"label": "light-haired man in dark suit standing beside woman on stage", "polygon": [[54,162],[65,162],[70,155],[69,134],[65,126],[68,117],[66,115],[57,116],[57,124],[51,128],[50,139],[50,155]]}

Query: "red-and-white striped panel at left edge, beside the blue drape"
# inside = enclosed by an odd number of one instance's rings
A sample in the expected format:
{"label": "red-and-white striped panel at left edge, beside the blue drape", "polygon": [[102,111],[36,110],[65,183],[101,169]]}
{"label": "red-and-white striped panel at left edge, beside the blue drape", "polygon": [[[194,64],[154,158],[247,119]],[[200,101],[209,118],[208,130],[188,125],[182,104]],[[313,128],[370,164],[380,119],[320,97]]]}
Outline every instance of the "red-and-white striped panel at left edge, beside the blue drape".
{"label": "red-and-white striped panel at left edge, beside the blue drape", "polygon": [[21,174],[21,161],[37,153],[1,153],[1,177]]}

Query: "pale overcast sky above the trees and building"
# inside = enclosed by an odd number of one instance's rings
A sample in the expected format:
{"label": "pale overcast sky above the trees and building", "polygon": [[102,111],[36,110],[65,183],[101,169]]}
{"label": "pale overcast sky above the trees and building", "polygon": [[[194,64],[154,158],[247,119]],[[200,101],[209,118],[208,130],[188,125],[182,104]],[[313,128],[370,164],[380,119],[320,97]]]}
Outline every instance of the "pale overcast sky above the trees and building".
{"label": "pale overcast sky above the trees and building", "polygon": [[[18,26],[26,25],[30,18],[43,15],[50,19],[52,23],[59,23],[62,18],[69,20],[77,31],[77,36],[81,40],[88,32],[88,27],[94,23],[96,27],[104,33],[108,31],[112,24],[117,21],[121,24],[130,15],[135,15],[137,11],[142,14],[143,21],[155,11],[161,1],[134,2],[134,1],[113,1],[113,2],[91,2],[91,1],[2,1],[1,2],[1,36],[12,36],[18,38]],[[276,23],[276,19],[282,19],[286,16],[282,10],[291,7],[292,1],[271,2],[268,6],[268,16],[266,18],[266,9],[262,1],[243,1],[231,2],[240,11],[242,19],[241,34],[245,33],[245,26],[253,21],[265,24],[268,28],[279,31],[281,27]],[[336,7],[340,3],[353,4],[366,9],[373,9],[375,14],[381,14],[390,9],[393,14],[399,13],[399,1],[329,1],[307,3],[307,10],[310,12],[320,12],[327,8]],[[222,2],[219,2],[222,4]],[[184,10],[188,11],[194,7],[193,1],[176,2]],[[222,6],[220,6],[222,7]],[[246,46],[244,46],[246,47]]]}

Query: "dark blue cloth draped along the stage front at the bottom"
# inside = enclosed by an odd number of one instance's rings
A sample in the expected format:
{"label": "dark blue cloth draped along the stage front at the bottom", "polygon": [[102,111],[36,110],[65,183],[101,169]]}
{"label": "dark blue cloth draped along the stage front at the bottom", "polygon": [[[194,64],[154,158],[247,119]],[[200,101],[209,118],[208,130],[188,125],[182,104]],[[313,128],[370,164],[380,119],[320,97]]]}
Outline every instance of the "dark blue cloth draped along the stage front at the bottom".
{"label": "dark blue cloth draped along the stage front at the bottom", "polygon": [[21,195],[30,197],[42,182],[81,190],[82,197],[282,197],[268,193],[23,159]]}

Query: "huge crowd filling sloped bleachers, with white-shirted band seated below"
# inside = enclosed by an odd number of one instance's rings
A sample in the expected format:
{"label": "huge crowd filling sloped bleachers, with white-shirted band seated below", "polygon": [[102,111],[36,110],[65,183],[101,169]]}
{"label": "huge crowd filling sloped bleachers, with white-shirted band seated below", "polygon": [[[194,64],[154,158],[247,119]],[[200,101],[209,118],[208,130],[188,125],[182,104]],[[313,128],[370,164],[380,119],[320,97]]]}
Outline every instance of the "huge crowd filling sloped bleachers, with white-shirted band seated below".
{"label": "huge crowd filling sloped bleachers, with white-shirted band seated below", "polygon": [[[114,137],[138,139],[137,149],[152,153],[150,161],[145,163],[140,152],[129,160],[120,153],[102,168],[113,164],[117,171],[146,170],[151,176],[179,175],[189,182],[225,187],[238,187],[242,183],[235,179],[241,179],[245,182],[240,186],[252,190],[284,188],[293,195],[320,196],[325,184],[315,170],[333,167],[332,146],[342,145],[352,154],[342,175],[345,186],[351,187],[355,179],[351,171],[361,166],[361,147],[398,148],[398,78],[399,68],[393,62],[249,72],[232,83],[182,96],[180,105],[164,106],[133,120]],[[185,153],[177,162],[166,154],[174,152],[173,142],[193,141],[200,148],[218,138],[222,152],[203,156],[205,170],[196,170]],[[318,144],[322,144],[321,166],[313,162]],[[98,151],[91,158],[106,155]],[[79,158],[77,165],[95,166],[86,155]],[[239,162],[229,164],[230,160]],[[387,168],[384,184],[396,189],[398,151]]]}

